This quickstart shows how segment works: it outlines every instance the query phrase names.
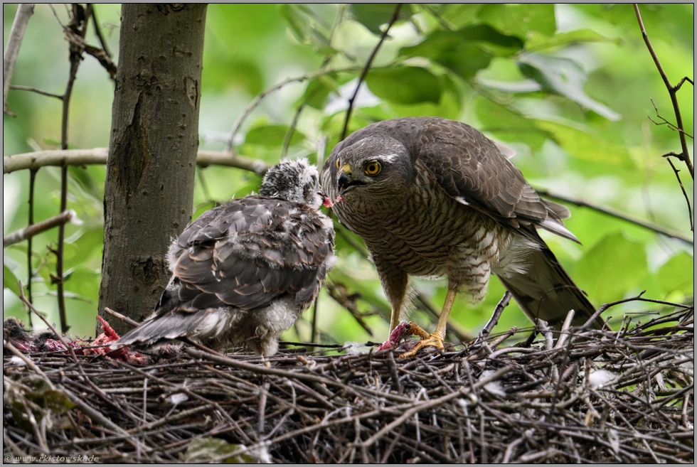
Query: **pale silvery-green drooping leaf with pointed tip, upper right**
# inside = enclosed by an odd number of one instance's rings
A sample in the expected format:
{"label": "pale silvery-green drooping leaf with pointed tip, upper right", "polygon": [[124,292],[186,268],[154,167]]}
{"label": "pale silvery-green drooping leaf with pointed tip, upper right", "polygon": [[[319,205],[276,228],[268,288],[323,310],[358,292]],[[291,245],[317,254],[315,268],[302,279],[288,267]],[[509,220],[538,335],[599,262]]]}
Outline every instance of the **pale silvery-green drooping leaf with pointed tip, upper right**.
{"label": "pale silvery-green drooping leaf with pointed tip, upper right", "polygon": [[538,53],[528,53],[518,60],[521,72],[539,82],[544,89],[563,95],[612,122],[622,118],[610,107],[593,100],[583,91],[587,77],[573,60]]}

